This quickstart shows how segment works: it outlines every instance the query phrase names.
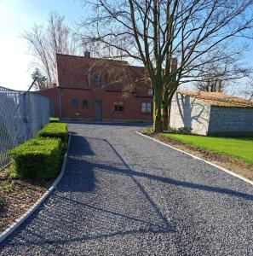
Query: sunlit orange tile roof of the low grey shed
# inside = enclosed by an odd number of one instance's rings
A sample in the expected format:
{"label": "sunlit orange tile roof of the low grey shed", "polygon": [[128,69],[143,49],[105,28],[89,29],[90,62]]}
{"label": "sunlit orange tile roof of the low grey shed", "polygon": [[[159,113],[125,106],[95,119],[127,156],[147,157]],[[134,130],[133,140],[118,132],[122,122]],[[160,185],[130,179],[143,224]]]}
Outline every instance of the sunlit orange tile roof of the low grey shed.
{"label": "sunlit orange tile roof of the low grey shed", "polygon": [[178,93],[186,96],[192,96],[211,106],[227,108],[253,108],[253,102],[244,100],[236,96],[226,95],[221,92],[207,92],[194,90],[177,90]]}

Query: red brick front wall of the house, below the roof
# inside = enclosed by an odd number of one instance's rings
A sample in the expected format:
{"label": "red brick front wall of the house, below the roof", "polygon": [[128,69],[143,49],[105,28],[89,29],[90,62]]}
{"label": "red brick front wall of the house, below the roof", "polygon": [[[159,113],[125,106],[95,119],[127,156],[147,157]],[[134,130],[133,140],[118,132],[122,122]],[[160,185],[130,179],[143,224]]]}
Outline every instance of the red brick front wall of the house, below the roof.
{"label": "red brick front wall of the house, below the roof", "polygon": [[[102,101],[102,119],[141,119],[152,120],[152,113],[141,113],[141,102],[152,102],[152,97],[139,97],[134,94],[124,97],[122,92],[107,91],[102,88],[65,89],[52,88],[38,92],[49,99],[55,99],[55,115],[60,116],[59,104],[61,102],[61,118],[63,119],[94,119],[94,101]],[[60,100],[58,98],[60,96]],[[78,100],[78,106],[72,107],[72,100]],[[82,101],[88,101],[88,108],[82,107]],[[113,110],[113,102],[124,102],[123,113]]]}

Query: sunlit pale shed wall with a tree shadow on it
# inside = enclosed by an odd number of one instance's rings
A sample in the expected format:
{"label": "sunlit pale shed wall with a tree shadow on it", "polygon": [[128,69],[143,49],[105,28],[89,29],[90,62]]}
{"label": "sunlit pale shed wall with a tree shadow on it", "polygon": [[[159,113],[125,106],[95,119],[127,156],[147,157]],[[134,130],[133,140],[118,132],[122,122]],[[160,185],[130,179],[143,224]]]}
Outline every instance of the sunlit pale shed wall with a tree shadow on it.
{"label": "sunlit pale shed wall with a tree shadow on it", "polygon": [[187,127],[193,133],[206,135],[209,129],[210,105],[191,96],[175,93],[171,103],[170,127]]}

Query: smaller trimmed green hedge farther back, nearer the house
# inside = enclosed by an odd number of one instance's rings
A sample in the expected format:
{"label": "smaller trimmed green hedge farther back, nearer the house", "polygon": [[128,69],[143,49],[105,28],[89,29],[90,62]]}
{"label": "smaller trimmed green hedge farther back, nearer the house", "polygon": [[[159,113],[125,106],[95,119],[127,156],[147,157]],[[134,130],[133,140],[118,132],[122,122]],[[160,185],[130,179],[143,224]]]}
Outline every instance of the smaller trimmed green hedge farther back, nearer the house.
{"label": "smaller trimmed green hedge farther back, nearer the house", "polygon": [[67,143],[66,124],[50,123],[45,125],[42,130],[38,131],[37,135],[39,137],[59,137],[65,146]]}

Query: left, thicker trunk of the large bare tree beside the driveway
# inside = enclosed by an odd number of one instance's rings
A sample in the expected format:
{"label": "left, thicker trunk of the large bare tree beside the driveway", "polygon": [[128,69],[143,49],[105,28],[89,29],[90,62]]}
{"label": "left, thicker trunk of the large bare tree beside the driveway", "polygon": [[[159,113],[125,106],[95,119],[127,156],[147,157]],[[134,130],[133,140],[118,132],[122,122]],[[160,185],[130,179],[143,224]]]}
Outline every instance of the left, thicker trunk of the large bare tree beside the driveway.
{"label": "left, thicker trunk of the large bare tree beside the driveway", "polygon": [[162,131],[162,119],[161,119],[161,108],[162,108],[162,83],[161,81],[157,80],[152,86],[154,89],[154,95],[153,95],[153,109],[152,109],[152,115],[153,115],[153,131],[154,132],[160,132]]}

